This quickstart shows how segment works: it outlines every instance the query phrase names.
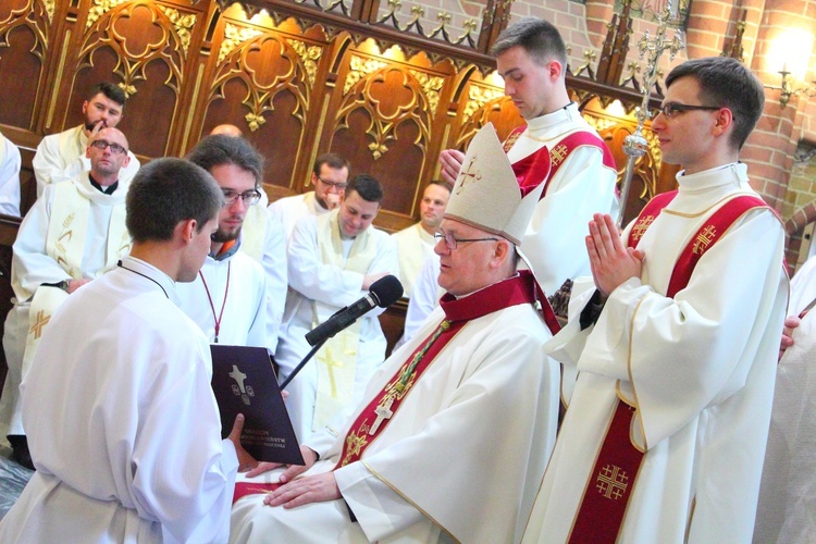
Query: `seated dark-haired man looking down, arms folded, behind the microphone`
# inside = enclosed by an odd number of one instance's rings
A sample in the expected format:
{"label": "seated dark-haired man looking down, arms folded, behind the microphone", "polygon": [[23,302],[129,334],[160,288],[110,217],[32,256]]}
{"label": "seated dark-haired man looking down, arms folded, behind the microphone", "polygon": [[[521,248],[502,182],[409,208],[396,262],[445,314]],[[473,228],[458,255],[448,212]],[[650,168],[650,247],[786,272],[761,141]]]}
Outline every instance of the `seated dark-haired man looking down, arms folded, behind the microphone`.
{"label": "seated dark-haired man looking down, arms folded, behind the microphone", "polygon": [[[309,353],[307,332],[397,271],[391,238],[371,225],[382,200],[380,182],[360,174],[338,208],[307,215],[295,225],[288,245],[289,293],[275,353],[282,380]],[[326,342],[288,385],[286,406],[298,438],[359,400],[385,359],[387,343],[378,320],[382,312],[368,312]]]}

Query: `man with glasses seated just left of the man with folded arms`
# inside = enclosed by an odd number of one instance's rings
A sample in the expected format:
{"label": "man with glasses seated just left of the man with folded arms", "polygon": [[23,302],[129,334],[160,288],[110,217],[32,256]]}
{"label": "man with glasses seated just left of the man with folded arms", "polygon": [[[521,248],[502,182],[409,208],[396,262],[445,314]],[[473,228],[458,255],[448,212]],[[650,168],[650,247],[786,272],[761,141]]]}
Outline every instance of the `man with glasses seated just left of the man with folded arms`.
{"label": "man with glasses seated just left of the man with folded arms", "polygon": [[322,215],[339,206],[348,185],[350,169],[348,160],[338,154],[321,154],[314,161],[310,177],[314,190],[281,198],[269,206],[269,213],[274,214],[286,228],[286,239],[292,236],[295,223],[300,218]]}

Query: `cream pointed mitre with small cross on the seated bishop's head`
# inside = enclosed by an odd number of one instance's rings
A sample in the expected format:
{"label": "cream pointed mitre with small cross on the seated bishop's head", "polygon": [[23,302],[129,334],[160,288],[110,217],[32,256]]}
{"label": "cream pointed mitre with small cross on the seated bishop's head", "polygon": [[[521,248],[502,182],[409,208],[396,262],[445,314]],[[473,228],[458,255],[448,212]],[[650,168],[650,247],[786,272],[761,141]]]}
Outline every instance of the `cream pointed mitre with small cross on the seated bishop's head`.
{"label": "cream pointed mitre with small cross on the seated bishop's head", "polygon": [[484,125],[468,146],[445,218],[460,221],[521,244],[544,184],[521,198],[493,123]]}

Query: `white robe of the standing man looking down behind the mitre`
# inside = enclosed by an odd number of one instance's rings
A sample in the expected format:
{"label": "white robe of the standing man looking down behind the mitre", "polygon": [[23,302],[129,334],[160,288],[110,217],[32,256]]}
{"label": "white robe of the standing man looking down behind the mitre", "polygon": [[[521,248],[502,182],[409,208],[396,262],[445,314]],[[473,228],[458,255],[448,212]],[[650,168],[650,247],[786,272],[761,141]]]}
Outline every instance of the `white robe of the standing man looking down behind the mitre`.
{"label": "white robe of the standing man looking down behind the mitre", "polygon": [[[515,163],[544,146],[552,153],[564,137],[581,131],[597,135],[572,102],[529,120],[507,158]],[[617,172],[604,165],[601,149],[582,146],[567,156],[549,181],[521,240],[521,251],[547,296],[558,290],[565,280],[591,273],[584,243],[586,225],[593,213],[617,218],[616,180]]]}

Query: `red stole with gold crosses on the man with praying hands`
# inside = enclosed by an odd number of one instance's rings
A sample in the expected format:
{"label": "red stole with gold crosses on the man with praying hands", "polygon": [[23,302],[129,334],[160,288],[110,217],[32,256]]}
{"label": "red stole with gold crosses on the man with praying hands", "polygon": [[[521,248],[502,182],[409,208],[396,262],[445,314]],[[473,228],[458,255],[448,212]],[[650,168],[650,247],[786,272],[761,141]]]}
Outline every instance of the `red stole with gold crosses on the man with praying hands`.
{"label": "red stole with gold crosses on the man with praying hands", "polygon": [[[653,198],[643,208],[629,233],[629,247],[638,245],[646,228],[676,196],[676,190],[664,193]],[[678,292],[685,288],[703,254],[710,249],[740,217],[749,210],[761,207],[767,208],[761,198],[738,195],[716,210],[680,254],[671,272],[666,296],[675,298]],[[634,413],[635,407],[618,399],[609,429],[584,490],[583,499],[572,526],[570,542],[615,542],[618,537],[644,454],[632,444],[630,438]]]}

